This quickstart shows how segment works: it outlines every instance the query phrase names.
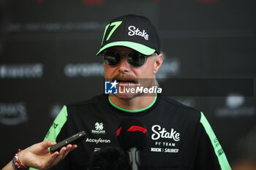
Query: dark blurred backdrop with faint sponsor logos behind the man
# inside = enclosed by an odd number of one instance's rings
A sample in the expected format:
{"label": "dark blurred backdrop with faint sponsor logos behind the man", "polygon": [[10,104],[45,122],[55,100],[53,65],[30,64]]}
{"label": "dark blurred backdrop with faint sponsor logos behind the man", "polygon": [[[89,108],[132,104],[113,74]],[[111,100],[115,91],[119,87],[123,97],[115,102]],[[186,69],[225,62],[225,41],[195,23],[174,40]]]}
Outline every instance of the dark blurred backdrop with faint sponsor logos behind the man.
{"label": "dark blurred backdrop with faint sponsor logos behind the man", "polygon": [[[104,93],[96,53],[106,23],[119,15],[145,15],[157,27],[160,85],[247,78],[254,90],[255,9],[250,0],[1,0],[0,167],[41,142],[64,104]],[[171,97],[205,113],[233,169],[247,162],[255,169],[255,93]]]}

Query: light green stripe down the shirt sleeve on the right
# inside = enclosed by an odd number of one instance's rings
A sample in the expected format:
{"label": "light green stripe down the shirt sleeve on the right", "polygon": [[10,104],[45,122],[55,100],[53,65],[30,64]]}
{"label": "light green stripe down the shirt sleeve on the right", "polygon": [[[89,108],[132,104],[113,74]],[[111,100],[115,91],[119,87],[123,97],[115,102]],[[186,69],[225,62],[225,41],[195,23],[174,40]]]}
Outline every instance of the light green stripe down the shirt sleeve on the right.
{"label": "light green stripe down the shirt sleeve on the right", "polygon": [[203,124],[203,127],[206,130],[206,134],[208,134],[211,140],[211,144],[214,147],[214,152],[217,155],[220,167],[222,170],[231,170],[225,152],[222,150],[222,146],[219,144],[217,136],[215,136],[214,131],[212,130],[211,125],[208,123],[205,115],[203,115],[203,112],[201,112],[200,123]]}

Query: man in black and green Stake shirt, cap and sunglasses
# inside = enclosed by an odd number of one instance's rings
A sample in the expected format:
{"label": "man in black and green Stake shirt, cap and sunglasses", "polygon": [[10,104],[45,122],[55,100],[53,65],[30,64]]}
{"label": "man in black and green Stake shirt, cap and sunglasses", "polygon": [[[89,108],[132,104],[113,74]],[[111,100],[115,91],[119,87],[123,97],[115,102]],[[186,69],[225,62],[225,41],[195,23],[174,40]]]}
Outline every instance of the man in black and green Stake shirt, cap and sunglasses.
{"label": "man in black and green Stake shirt, cap and sunglasses", "polygon": [[105,28],[97,53],[104,60],[105,80],[123,93],[100,95],[61,109],[45,140],[61,140],[86,131],[86,140],[53,169],[87,169],[91,155],[118,147],[116,130],[124,117],[135,117],[148,130],[140,169],[230,169],[225,153],[203,112],[148,90],[162,65],[157,30],[148,18],[124,15]]}

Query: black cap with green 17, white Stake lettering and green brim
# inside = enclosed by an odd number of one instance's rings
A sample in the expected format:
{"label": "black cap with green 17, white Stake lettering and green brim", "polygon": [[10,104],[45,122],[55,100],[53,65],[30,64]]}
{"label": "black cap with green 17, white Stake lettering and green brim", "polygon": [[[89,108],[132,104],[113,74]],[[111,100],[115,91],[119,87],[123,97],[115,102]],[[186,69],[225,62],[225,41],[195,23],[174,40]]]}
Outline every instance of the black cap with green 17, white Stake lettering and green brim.
{"label": "black cap with green 17, white Stake lettering and green brim", "polygon": [[108,23],[102,38],[99,55],[108,47],[124,46],[144,55],[160,53],[160,42],[151,21],[139,15],[123,15]]}

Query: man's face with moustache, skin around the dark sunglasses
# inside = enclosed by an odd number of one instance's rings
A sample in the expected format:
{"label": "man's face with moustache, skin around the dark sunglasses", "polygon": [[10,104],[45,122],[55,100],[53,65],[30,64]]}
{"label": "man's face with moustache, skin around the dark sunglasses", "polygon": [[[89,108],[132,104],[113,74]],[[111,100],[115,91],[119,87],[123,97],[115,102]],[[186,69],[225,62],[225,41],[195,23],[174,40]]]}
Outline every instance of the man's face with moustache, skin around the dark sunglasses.
{"label": "man's face with moustache, skin around the dark sunglasses", "polygon": [[[144,88],[151,88],[154,86],[155,74],[161,66],[162,60],[159,64],[157,61],[159,58],[150,56],[146,59],[146,62],[139,67],[131,66],[127,62],[127,54],[133,50],[128,47],[111,47],[108,50],[118,51],[124,54],[121,58],[121,62],[117,66],[109,66],[104,62],[105,68],[105,80],[106,81],[118,81],[118,90],[121,89],[124,93],[115,94],[118,98],[134,98],[139,96],[140,93],[127,93],[125,89],[135,88],[136,85],[143,86]],[[158,62],[158,63],[157,63]]]}

